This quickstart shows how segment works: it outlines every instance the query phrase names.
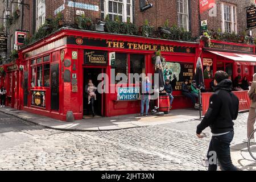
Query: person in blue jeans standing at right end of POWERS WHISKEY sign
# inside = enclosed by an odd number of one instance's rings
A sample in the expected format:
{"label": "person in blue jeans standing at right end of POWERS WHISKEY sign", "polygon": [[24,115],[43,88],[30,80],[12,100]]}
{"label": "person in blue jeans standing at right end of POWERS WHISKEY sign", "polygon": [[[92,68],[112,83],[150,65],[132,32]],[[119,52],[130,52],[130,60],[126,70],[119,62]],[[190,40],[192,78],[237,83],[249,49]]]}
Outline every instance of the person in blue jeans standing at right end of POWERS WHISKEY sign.
{"label": "person in blue jeans standing at right end of POWERS WHISKEY sign", "polygon": [[141,116],[144,115],[144,105],[146,105],[146,116],[148,115],[148,107],[150,102],[150,93],[151,93],[151,82],[149,78],[146,76],[141,84]]}

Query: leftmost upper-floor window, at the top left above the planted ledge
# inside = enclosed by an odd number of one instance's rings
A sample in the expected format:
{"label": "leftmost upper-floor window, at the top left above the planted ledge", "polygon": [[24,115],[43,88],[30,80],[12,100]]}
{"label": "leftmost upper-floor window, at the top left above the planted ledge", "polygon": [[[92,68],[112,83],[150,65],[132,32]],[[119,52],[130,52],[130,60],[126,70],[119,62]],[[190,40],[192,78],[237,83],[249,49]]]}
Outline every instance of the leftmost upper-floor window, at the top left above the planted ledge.
{"label": "leftmost upper-floor window, at the top left above the planted ledge", "polygon": [[36,30],[46,22],[46,1],[36,0]]}

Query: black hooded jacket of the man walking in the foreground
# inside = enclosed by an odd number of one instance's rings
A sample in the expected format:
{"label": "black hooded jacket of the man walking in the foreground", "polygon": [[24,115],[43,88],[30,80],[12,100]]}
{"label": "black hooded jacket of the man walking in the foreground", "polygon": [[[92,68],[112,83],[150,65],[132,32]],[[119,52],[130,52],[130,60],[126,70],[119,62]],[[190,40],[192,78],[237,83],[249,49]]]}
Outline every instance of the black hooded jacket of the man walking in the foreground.
{"label": "black hooded jacket of the man walking in the foreground", "polygon": [[210,126],[212,133],[226,133],[234,130],[233,120],[237,119],[239,100],[232,92],[232,81],[225,79],[214,88],[210,97],[209,109],[203,121],[197,126],[196,133]]}

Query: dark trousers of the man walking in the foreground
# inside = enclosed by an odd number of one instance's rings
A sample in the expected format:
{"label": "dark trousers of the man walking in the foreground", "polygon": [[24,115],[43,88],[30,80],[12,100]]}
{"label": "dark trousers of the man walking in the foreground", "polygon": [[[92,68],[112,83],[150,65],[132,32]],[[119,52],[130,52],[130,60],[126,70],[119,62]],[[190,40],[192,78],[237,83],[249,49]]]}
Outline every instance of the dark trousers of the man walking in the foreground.
{"label": "dark trousers of the man walking in the foreground", "polygon": [[[212,137],[210,141],[210,146],[208,150],[208,162],[209,162],[209,171],[217,170],[217,163],[212,164],[211,162],[213,154],[210,151],[216,152],[218,164],[220,168],[224,171],[237,171],[238,169],[233,165],[231,156],[230,156],[230,143],[234,137],[234,131],[229,132],[228,134]],[[217,160],[216,160],[217,161]]]}

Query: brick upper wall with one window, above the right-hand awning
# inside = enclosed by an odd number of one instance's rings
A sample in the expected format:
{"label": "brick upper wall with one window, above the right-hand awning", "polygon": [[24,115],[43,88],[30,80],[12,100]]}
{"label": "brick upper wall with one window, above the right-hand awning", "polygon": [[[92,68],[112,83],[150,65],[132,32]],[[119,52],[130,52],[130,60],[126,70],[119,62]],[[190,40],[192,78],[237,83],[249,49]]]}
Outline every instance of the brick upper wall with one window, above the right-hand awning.
{"label": "brick upper wall with one window, above the right-hand awning", "polygon": [[243,34],[246,30],[246,7],[250,0],[216,0],[216,7],[200,14],[208,21],[208,30]]}

